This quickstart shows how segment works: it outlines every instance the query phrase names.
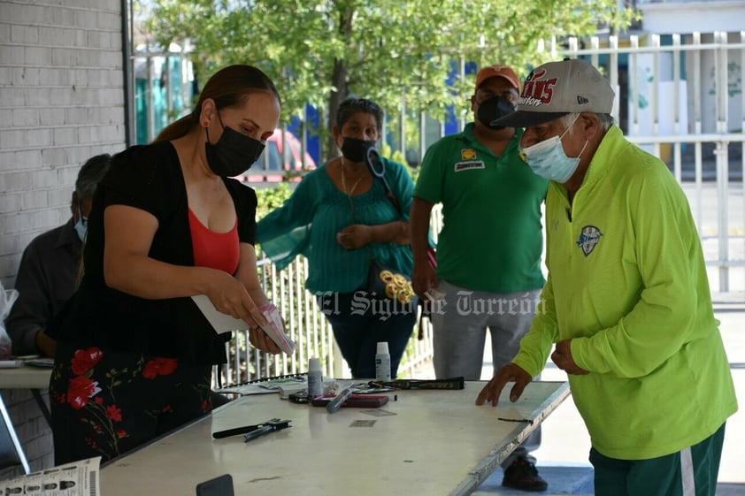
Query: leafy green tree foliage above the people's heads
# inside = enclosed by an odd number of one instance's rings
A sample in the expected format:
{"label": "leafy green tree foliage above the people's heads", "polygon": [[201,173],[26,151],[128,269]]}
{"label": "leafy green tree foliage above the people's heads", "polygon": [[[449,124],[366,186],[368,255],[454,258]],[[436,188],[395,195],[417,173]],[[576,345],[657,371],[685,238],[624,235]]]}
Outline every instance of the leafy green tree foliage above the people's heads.
{"label": "leafy green tree foliage above the people's heads", "polygon": [[[552,56],[551,36],[627,26],[618,0],[152,0],[150,33],[161,46],[190,40],[206,80],[229,64],[261,67],[276,82],[283,118],[305,103],[326,110],[326,129],[348,95],[388,111],[469,117],[473,75],[464,63],[529,68]],[[143,3],[143,0],[140,0]],[[457,75],[452,77],[452,73]]]}

